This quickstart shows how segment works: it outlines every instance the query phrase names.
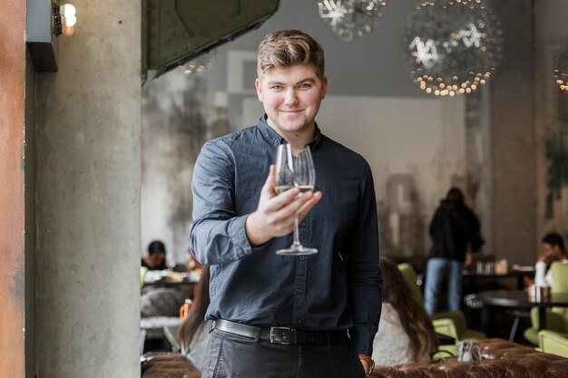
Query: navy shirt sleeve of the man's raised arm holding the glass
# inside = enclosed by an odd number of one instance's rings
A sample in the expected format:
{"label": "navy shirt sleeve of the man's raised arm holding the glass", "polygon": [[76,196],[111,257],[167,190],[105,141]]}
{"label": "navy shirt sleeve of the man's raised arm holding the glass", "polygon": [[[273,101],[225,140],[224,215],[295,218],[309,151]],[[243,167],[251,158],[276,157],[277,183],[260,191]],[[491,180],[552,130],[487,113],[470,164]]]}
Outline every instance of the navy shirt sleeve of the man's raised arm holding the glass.
{"label": "navy shirt sleeve of the man's raised arm holding the glass", "polygon": [[252,253],[245,230],[248,214],[235,211],[234,161],[227,144],[210,141],[193,169],[190,248],[201,264],[218,265]]}

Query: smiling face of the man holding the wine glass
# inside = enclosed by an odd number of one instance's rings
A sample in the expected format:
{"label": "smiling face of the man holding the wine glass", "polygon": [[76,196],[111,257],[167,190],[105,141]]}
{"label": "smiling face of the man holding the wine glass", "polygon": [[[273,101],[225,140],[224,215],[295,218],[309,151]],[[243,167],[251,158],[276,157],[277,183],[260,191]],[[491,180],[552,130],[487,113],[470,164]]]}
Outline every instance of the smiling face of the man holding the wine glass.
{"label": "smiling face of the man holding the wine glass", "polygon": [[326,95],[328,78],[318,78],[312,66],[273,68],[256,80],[259,101],[268,124],[282,137],[315,130],[319,104]]}

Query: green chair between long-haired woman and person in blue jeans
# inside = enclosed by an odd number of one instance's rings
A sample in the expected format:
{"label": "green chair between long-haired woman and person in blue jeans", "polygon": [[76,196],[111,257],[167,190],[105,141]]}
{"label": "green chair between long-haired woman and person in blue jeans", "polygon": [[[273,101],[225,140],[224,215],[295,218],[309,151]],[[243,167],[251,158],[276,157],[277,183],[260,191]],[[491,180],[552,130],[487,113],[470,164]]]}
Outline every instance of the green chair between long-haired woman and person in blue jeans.
{"label": "green chair between long-haired woman and person in blue jeans", "polygon": [[[416,270],[408,263],[401,263],[398,269],[405,277],[406,283],[410,286],[410,294],[416,301],[424,305],[424,297],[420,287],[416,284]],[[465,315],[462,311],[445,311],[436,313],[430,316],[434,329],[438,334],[446,334],[447,336],[455,338],[454,345],[440,345],[439,350],[456,354],[457,344],[462,340],[470,339],[485,339],[487,336],[481,331],[475,331],[467,328]]]}

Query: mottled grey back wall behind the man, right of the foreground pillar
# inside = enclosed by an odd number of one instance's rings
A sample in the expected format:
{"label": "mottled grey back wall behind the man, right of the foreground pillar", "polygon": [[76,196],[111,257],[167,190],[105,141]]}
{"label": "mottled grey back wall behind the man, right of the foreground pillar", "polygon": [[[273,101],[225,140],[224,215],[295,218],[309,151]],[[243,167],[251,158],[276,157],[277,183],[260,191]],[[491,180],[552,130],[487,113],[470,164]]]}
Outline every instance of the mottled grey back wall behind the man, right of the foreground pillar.
{"label": "mottled grey back wall behind the man, right of the foreground pillar", "polygon": [[271,31],[296,28],[326,52],[329,89],[320,128],[361,153],[373,170],[382,253],[425,257],[428,222],[447,189],[457,186],[481,218],[482,253],[532,264],[544,231],[568,236],[560,215],[568,212],[568,102],[553,80],[566,31],[560,20],[533,18],[531,2],[485,3],[495,18],[487,17],[493,25],[483,32],[501,57],[488,84],[467,95],[436,96],[413,82],[406,35],[416,31],[416,19],[431,18],[419,18],[425,7],[417,11],[420,3],[413,0],[386,2],[376,21],[367,20],[370,33],[348,41],[320,18],[317,2],[282,1],[259,29],[147,82],[142,246],[162,239],[171,260],[185,260],[191,173],[201,145],[256,124],[263,113],[254,89],[259,41]]}

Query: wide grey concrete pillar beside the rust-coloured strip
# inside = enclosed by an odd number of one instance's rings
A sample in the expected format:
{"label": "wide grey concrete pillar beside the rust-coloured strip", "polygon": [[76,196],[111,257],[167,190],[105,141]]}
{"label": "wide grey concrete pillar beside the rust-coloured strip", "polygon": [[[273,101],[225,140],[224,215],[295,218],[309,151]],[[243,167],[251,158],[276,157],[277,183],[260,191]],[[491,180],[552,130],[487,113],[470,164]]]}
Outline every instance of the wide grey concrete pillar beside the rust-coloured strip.
{"label": "wide grey concrete pillar beside the rust-coloured strip", "polygon": [[37,75],[39,378],[140,376],[141,2],[76,0]]}

